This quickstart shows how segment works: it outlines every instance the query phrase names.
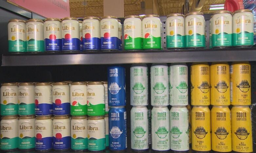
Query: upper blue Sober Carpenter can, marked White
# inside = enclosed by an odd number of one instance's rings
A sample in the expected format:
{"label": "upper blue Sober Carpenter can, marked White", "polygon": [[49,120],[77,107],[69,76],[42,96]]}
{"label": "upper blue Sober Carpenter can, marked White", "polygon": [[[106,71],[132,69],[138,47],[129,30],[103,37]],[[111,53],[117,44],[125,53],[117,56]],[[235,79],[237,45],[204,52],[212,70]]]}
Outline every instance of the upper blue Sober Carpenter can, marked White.
{"label": "upper blue Sober Carpenter can, marked White", "polygon": [[108,105],[126,105],[126,84],[124,67],[108,67]]}

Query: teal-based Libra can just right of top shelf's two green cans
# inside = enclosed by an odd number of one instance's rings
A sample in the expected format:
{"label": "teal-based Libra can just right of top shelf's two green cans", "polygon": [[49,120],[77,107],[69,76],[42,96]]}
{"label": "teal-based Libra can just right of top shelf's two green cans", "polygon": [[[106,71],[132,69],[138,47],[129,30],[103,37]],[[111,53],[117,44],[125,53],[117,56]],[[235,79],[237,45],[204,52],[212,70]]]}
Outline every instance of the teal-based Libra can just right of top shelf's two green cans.
{"label": "teal-based Libra can just right of top shelf's two green cans", "polygon": [[166,27],[166,48],[185,48],[185,19],[183,14],[167,15]]}

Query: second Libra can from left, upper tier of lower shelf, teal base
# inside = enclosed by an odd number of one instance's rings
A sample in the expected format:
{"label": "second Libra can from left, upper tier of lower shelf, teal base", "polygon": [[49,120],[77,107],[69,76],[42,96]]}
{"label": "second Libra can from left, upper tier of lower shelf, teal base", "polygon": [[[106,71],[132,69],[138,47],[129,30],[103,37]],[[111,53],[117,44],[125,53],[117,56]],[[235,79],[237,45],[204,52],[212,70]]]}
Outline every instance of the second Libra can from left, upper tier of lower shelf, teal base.
{"label": "second Libra can from left, upper tier of lower shelf, teal base", "polygon": [[18,114],[19,115],[34,115],[35,103],[34,103],[34,88],[35,85],[32,82],[21,83],[18,87]]}

